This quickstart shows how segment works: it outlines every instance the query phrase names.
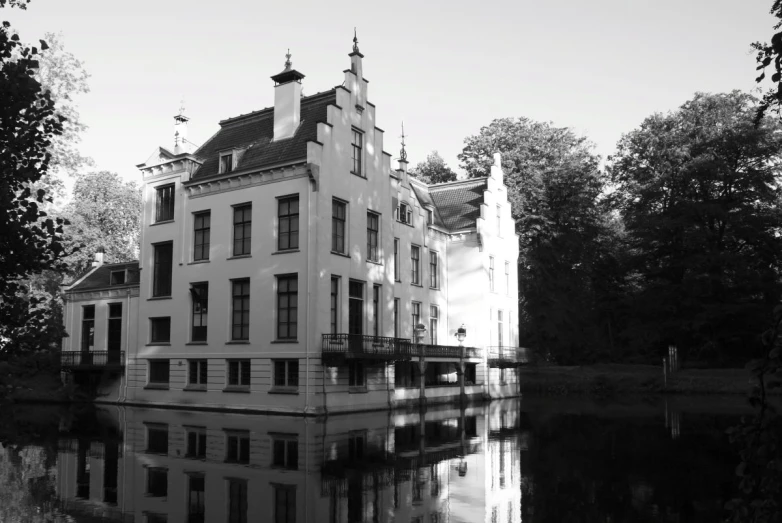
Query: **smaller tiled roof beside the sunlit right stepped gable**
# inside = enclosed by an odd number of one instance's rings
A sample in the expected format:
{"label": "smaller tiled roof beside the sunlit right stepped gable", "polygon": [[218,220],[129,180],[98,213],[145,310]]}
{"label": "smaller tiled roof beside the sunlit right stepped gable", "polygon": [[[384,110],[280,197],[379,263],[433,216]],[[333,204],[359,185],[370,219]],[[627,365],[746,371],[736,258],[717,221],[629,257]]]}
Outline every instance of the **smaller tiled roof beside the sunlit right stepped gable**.
{"label": "smaller tiled roof beside the sunlit right stepped gable", "polygon": [[486,178],[430,185],[429,194],[445,226],[458,231],[475,227],[481,215]]}

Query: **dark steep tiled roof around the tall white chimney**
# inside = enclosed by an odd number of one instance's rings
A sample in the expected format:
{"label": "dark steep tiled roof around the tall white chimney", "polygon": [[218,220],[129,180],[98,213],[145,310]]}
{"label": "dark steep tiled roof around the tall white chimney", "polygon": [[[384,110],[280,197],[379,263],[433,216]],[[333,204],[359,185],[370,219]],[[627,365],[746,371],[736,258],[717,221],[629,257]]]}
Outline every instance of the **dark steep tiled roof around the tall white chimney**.
{"label": "dark steep tiled roof around the tall white chimney", "polygon": [[305,160],[307,142],[318,139],[318,122],[326,121],[326,106],[336,103],[336,90],[301,99],[301,124],[293,137],[273,142],[274,107],[229,118],[220,122],[220,130],[194,154],[204,160],[193,179],[219,173],[218,153],[226,149],[246,149],[234,170],[263,168],[275,164]]}

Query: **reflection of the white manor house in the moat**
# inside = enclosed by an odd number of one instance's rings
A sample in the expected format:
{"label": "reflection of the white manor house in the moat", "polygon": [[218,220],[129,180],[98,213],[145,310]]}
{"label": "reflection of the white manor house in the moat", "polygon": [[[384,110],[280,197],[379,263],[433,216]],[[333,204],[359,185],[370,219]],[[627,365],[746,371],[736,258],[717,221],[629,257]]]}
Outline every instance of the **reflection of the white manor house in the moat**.
{"label": "reflection of the white manor house in the moat", "polygon": [[71,514],[134,522],[519,521],[514,400],[327,419],[117,407],[64,427]]}

